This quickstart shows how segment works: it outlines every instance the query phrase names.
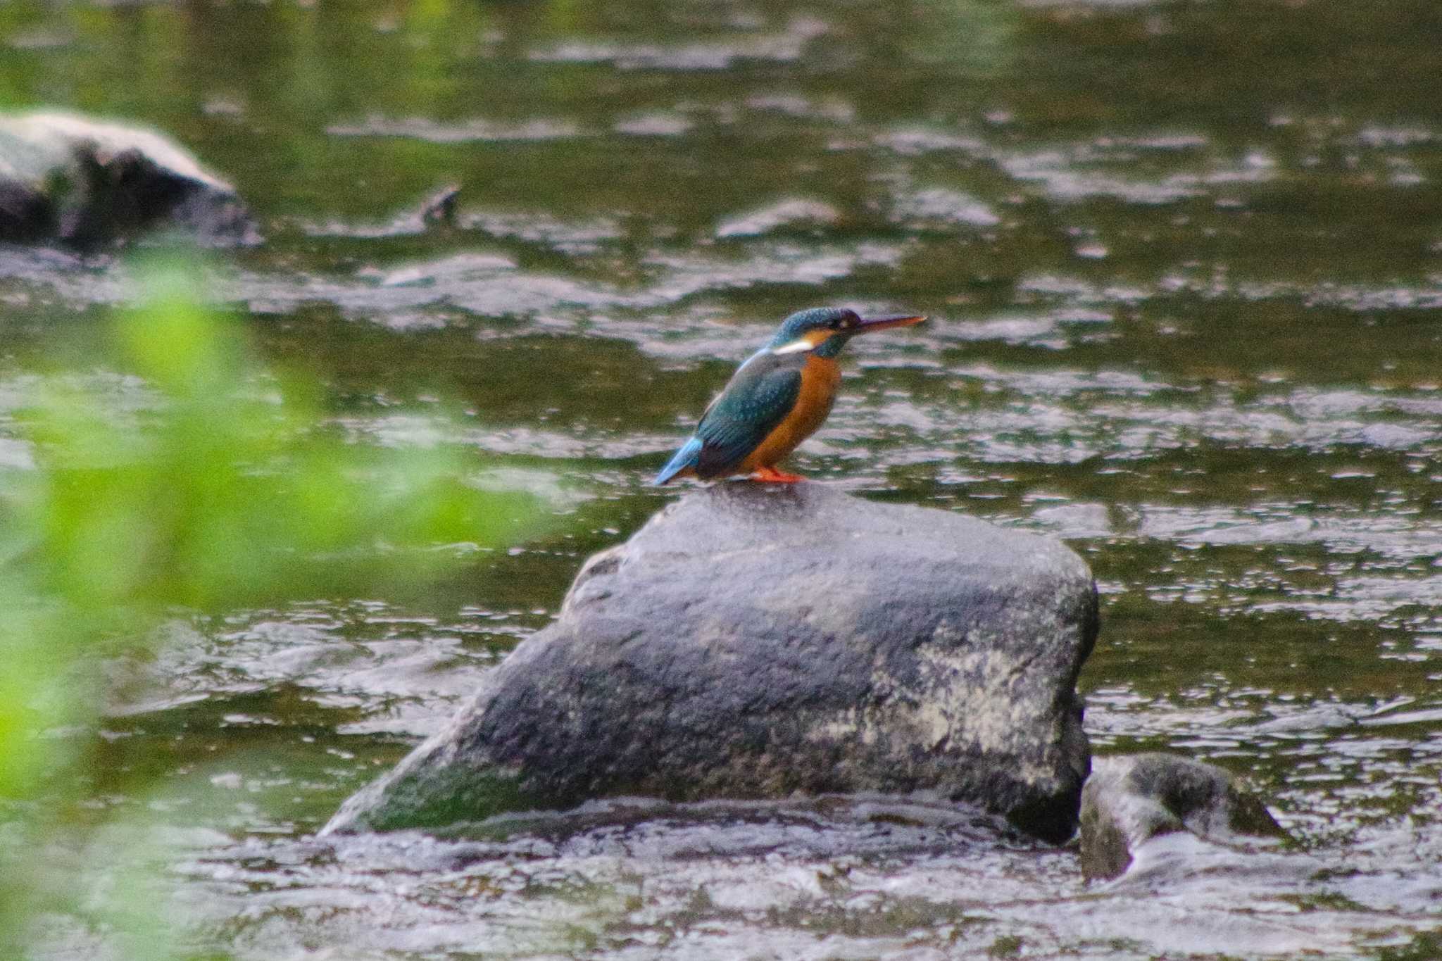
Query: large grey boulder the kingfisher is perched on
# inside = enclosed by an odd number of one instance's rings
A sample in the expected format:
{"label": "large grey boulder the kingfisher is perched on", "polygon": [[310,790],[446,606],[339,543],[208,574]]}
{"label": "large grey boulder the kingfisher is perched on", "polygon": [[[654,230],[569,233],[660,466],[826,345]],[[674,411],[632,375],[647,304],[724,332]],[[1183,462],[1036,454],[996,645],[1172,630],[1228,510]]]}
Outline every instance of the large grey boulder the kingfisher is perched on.
{"label": "large grey boulder the kingfisher is perched on", "polygon": [[822,484],[686,494],[327,831],[587,798],[933,791],[1050,840],[1090,751],[1097,630],[1056,540]]}

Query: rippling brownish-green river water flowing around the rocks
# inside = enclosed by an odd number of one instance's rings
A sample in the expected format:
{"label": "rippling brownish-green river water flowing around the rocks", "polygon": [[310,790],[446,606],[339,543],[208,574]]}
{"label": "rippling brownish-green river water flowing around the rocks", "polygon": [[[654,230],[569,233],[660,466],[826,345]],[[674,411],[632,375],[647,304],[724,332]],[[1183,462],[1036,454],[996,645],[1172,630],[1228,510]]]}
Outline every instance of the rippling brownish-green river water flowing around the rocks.
{"label": "rippling brownish-green river water flowing around the rocks", "polygon": [[[0,105],[150,122],[234,180],[267,242],[208,290],[355,442],[453,447],[557,516],[414,595],[176,624],[101,746],[162,787],[97,785],[127,828],[85,883],[124,886],[140,824],[137,896],[239,958],[1439,957],[1439,40],[1435,0],[0,6]],[[130,290],[0,251],[0,477],[35,365]],[[1094,751],[1244,775],[1296,846],[1086,886],[897,798],[316,841],[816,304],[932,320],[848,350],[795,467],[1063,537],[1102,592]]]}

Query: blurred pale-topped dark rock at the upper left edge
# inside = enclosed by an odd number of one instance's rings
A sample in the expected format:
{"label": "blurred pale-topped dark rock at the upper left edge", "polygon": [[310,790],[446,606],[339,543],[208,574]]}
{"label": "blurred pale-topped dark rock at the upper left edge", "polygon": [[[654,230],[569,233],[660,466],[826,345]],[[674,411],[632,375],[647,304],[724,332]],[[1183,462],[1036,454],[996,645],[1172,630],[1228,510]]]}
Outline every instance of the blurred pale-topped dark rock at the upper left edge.
{"label": "blurred pale-topped dark rock at the upper left edge", "polygon": [[94,249],[157,228],[206,245],[260,239],[235,189],[154,131],[0,115],[0,241]]}

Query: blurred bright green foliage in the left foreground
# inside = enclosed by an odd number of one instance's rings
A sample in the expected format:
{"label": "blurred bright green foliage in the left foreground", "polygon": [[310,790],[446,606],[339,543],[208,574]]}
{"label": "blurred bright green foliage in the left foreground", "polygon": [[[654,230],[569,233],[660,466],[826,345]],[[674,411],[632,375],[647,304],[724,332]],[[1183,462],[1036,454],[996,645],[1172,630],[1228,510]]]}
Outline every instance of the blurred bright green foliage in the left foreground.
{"label": "blurred bright green foliage in the left foreground", "polygon": [[348,442],[314,377],[265,369],[179,274],[150,290],[99,359],[144,401],[50,377],[20,414],[35,468],[0,493],[4,958],[23,957],[37,912],[78,898],[35,860],[84,834],[81,735],[107,705],[107,657],[183,612],[384,594],[434,575],[454,555],[438,547],[513,540],[539,514],[529,494],[472,483],[456,454]]}

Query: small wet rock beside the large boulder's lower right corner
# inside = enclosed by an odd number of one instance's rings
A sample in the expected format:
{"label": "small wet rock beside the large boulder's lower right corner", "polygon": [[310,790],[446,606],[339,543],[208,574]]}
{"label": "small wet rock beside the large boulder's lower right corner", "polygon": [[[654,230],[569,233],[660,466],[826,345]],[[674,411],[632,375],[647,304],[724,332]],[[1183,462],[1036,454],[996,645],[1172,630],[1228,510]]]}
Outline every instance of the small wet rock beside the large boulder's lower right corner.
{"label": "small wet rock beside the large boulder's lower right corner", "polygon": [[1218,766],[1169,754],[1099,758],[1082,791],[1082,873],[1118,877],[1148,841],[1191,831],[1233,844],[1286,833]]}

